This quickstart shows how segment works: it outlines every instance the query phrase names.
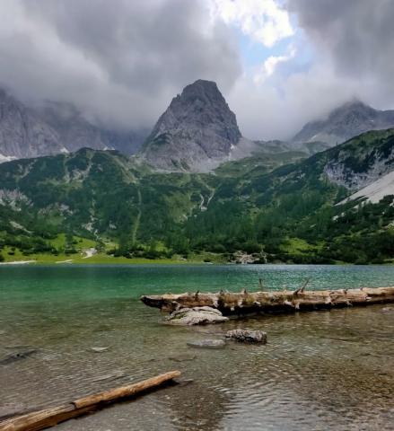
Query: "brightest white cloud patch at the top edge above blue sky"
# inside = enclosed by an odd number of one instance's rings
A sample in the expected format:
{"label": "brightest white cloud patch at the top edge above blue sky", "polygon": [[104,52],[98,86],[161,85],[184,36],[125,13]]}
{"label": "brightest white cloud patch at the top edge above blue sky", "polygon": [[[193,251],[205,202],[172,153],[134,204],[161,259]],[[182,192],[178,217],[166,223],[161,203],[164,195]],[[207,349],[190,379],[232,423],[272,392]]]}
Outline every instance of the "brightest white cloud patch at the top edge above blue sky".
{"label": "brightest white cloud patch at the top edge above blue sky", "polygon": [[211,11],[266,47],[293,35],[287,11],[274,0],[210,0]]}

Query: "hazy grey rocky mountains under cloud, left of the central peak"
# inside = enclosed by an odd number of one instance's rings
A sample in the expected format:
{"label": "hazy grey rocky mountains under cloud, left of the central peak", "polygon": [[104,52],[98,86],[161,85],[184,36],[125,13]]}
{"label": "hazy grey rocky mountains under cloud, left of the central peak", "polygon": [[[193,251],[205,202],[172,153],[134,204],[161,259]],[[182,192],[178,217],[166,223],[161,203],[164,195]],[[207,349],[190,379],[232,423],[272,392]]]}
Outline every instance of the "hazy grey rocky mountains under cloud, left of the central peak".
{"label": "hazy grey rocky mountains under cloud, left of the central peak", "polygon": [[83,147],[134,154],[148,132],[119,132],[93,125],[67,103],[31,108],[0,90],[0,163],[74,152]]}

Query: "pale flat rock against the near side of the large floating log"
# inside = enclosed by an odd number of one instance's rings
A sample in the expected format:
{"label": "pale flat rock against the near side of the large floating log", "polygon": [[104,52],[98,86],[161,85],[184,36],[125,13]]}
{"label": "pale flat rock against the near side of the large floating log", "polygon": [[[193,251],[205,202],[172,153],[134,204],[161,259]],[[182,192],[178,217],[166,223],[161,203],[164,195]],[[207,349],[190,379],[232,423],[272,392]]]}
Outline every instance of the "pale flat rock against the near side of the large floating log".
{"label": "pale flat rock against the near side of the large floating log", "polygon": [[221,323],[228,321],[228,317],[224,317],[222,312],[211,307],[194,307],[181,308],[175,312],[171,312],[170,316],[165,319],[165,323],[169,325],[203,325],[206,323]]}

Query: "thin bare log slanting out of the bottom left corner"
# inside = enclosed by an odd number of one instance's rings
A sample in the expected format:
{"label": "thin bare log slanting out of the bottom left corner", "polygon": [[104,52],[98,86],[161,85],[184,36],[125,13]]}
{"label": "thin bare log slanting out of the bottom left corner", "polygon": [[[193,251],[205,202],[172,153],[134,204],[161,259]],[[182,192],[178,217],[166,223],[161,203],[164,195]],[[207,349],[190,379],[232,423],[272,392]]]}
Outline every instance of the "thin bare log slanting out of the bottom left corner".
{"label": "thin bare log slanting out of the bottom left corner", "polygon": [[28,413],[16,418],[9,418],[0,422],[0,431],[39,431],[53,427],[67,419],[76,418],[99,409],[111,402],[142,394],[179,377],[179,371],[161,374],[143,382],[130,384],[120,388],[110,389],[94,395],[74,400],[63,406]]}

